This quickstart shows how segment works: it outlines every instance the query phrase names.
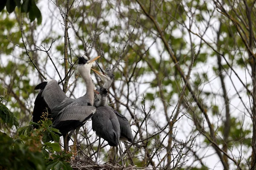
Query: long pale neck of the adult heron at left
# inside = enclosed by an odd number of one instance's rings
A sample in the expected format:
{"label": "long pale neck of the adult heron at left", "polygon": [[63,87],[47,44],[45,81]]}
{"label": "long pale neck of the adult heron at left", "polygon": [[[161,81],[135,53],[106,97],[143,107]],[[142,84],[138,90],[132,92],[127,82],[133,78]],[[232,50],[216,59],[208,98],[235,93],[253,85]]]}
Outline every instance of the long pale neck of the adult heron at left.
{"label": "long pale neck of the adult heron at left", "polygon": [[93,105],[93,82],[90,77],[90,68],[84,67],[83,69],[79,70],[79,74],[84,79],[86,86],[86,93],[84,94],[84,97],[86,97],[90,104]]}

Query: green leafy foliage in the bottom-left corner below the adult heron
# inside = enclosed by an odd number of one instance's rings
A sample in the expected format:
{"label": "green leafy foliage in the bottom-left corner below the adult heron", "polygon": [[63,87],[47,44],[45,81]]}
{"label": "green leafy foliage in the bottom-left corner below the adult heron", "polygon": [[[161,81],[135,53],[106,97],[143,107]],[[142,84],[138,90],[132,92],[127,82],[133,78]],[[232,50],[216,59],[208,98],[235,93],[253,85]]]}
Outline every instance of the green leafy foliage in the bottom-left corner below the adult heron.
{"label": "green leafy foliage in the bottom-left corner below the adult heron", "polygon": [[[71,153],[61,151],[60,133],[52,128],[52,122],[41,121],[37,129],[20,127],[14,139],[0,132],[0,168],[9,170],[72,170],[68,160]],[[22,165],[22,166],[21,166]]]}

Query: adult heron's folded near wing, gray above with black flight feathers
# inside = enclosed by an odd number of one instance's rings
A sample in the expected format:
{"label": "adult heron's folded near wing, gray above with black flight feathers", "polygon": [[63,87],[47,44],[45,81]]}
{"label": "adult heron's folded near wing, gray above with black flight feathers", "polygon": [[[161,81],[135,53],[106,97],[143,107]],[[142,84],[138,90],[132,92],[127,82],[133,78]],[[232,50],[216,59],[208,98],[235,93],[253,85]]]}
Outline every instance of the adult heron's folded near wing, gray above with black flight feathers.
{"label": "adult heron's folded near wing, gray above with black flight feathers", "polygon": [[58,114],[53,127],[60,130],[61,134],[68,133],[83,125],[95,112],[93,106],[71,106]]}

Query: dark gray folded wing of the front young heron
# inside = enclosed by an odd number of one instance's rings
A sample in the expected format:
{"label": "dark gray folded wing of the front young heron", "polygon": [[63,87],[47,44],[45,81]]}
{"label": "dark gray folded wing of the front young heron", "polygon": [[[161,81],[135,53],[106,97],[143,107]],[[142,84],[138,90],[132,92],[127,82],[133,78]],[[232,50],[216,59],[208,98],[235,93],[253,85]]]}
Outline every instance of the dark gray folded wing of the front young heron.
{"label": "dark gray folded wing of the front young heron", "polygon": [[106,106],[97,108],[92,117],[93,130],[105,139],[110,146],[117,146],[120,138],[120,125],[118,119]]}

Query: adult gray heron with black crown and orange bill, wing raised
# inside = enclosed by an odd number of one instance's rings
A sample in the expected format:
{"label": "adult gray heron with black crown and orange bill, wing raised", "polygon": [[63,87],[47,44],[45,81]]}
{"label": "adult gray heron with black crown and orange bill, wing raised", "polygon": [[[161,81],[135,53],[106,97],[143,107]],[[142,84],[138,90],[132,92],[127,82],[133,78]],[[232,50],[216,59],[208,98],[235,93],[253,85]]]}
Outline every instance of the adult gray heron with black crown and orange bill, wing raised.
{"label": "adult gray heron with black crown and orange bill, wing raised", "polygon": [[[90,69],[93,62],[99,57],[100,56],[90,60],[86,56],[78,57],[78,65],[76,69],[84,79],[87,89],[84,96],[77,99],[67,97],[55,79],[41,82],[35,87],[35,90],[40,89],[38,94],[40,96],[37,96],[38,100],[35,102],[36,113],[34,114],[42,114],[44,112],[44,106],[49,108],[50,111],[48,112],[51,113],[50,116],[52,118],[53,127],[58,129],[63,135],[65,150],[68,150],[67,133],[71,130],[76,130],[74,140],[75,147],[80,127],[96,112],[96,108],[93,106],[94,94],[93,82],[90,78]],[[40,101],[42,101],[43,106],[38,106],[40,105]],[[36,116],[36,119],[38,119],[38,116]]]}

